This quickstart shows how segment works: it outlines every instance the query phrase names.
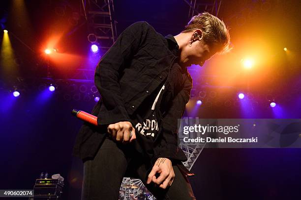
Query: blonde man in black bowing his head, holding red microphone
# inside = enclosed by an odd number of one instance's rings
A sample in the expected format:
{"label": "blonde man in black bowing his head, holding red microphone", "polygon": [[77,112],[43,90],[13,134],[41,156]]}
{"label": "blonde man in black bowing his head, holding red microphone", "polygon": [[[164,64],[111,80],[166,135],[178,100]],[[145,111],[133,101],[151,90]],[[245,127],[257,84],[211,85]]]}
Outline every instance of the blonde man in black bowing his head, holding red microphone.
{"label": "blonde man in black bowing his head, holding red microphone", "polygon": [[120,34],[95,70],[98,126],[84,124],[74,146],[84,162],[82,200],[118,200],[123,176],[140,178],[157,200],[195,200],[177,135],[192,88],[186,67],[229,44],[226,26],[209,13],[175,37],[146,22]]}

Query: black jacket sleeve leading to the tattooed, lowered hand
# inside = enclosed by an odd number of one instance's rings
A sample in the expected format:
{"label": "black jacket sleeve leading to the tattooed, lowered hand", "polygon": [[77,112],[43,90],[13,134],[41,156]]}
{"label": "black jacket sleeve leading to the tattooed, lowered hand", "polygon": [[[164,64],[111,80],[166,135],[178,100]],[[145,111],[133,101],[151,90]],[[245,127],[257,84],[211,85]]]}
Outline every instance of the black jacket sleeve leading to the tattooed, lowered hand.
{"label": "black jacket sleeve leading to the tattooed, lowered hand", "polygon": [[163,117],[161,128],[165,144],[161,147],[161,150],[156,157],[166,157],[181,161],[187,160],[184,152],[178,147],[178,119],[181,119],[183,116],[185,105],[190,98],[191,88],[192,78],[188,74],[182,90],[172,100],[170,108]]}

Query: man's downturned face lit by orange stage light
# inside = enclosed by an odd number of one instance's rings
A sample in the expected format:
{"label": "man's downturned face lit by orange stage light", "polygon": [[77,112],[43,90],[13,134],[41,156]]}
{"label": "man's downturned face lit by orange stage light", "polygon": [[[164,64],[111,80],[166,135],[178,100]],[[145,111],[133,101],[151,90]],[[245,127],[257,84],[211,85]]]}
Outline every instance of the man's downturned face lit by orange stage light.
{"label": "man's downturned face lit by orange stage light", "polygon": [[189,67],[192,64],[203,66],[206,60],[209,60],[214,54],[211,46],[206,44],[203,40],[197,40],[190,45],[187,44],[181,51],[181,66]]}

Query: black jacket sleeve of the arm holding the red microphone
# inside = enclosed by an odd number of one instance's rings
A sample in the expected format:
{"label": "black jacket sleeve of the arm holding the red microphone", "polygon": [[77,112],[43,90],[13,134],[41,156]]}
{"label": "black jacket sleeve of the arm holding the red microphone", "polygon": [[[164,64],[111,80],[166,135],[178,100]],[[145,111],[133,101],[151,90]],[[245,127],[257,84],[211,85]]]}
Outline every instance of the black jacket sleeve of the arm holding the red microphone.
{"label": "black jacket sleeve of the arm holding the red microphone", "polygon": [[127,67],[127,61],[141,46],[147,30],[146,22],[130,25],[99,61],[94,76],[95,85],[102,98],[97,115],[98,125],[130,121],[121,98],[119,79],[121,72]]}

